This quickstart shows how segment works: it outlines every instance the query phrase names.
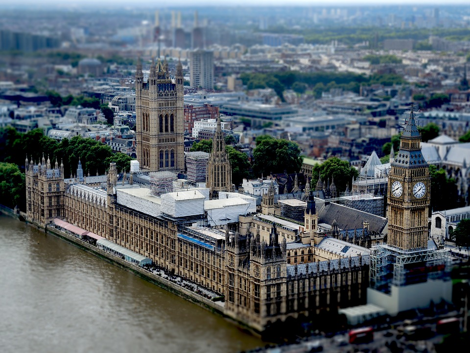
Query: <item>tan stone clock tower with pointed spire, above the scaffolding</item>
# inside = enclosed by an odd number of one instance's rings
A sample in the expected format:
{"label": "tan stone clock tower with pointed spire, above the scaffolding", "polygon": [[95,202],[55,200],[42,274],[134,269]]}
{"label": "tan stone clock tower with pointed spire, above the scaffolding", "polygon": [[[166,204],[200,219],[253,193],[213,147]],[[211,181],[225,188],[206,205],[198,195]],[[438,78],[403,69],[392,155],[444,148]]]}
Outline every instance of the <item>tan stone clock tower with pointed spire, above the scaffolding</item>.
{"label": "tan stone clock tower with pointed spire, above the scaffolding", "polygon": [[429,166],[421,152],[413,107],[400,138],[400,151],[391,161],[388,187],[388,245],[402,250],[426,248]]}

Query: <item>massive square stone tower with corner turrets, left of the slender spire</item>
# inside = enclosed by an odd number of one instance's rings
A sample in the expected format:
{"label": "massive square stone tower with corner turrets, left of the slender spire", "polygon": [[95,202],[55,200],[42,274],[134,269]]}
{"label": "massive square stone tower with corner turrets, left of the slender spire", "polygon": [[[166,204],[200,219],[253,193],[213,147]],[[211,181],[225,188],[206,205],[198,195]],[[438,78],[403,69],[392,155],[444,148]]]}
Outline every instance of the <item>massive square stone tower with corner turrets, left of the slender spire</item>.
{"label": "massive square stone tower with corner turrets, left of the slender spire", "polygon": [[184,161],[184,90],[181,62],[176,66],[175,82],[168,65],[152,60],[147,82],[142,65],[136,72],[137,159],[143,171],[185,169]]}

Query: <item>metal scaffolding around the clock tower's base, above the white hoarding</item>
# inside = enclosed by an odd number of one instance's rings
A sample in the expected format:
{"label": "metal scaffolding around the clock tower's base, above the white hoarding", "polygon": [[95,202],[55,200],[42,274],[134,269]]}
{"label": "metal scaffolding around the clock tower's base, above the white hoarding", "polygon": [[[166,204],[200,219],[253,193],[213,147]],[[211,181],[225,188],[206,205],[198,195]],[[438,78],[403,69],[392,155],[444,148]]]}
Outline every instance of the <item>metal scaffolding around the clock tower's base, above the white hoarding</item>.
{"label": "metal scaffolding around the clock tower's base, above the white hoarding", "polygon": [[428,279],[445,279],[450,273],[447,250],[402,250],[387,244],[372,247],[371,287],[390,293],[391,285],[406,286]]}

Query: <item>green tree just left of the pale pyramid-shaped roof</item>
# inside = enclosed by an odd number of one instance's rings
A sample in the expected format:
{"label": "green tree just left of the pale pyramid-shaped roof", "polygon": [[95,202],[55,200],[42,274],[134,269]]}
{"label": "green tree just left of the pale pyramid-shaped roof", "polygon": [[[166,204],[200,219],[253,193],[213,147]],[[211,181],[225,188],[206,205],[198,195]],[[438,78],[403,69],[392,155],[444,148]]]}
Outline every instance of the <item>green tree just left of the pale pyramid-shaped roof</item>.
{"label": "green tree just left of the pale pyramid-shaped roof", "polygon": [[339,159],[338,157],[330,157],[322,164],[313,166],[312,185],[315,185],[321,176],[324,182],[332,182],[336,185],[338,192],[344,192],[346,187],[352,189],[352,178],[359,176],[356,168],[349,165],[348,161]]}

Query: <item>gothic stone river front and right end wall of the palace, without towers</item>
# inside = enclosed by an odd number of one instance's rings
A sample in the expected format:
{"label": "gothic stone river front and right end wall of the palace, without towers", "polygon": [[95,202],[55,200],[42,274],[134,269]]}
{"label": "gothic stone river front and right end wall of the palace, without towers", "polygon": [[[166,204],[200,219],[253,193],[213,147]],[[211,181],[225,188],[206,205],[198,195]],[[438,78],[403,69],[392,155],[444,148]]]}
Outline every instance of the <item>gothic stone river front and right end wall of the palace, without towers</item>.
{"label": "gothic stone river front and right end wall of the palace, without towers", "polygon": [[[290,265],[285,239],[279,242],[275,225],[269,242],[251,233],[227,232],[215,246],[201,246],[191,240],[197,229],[118,204],[114,163],[106,190],[65,183],[60,168],[60,176],[47,167],[29,165],[27,170],[28,220],[46,225],[60,217],[147,256],[175,275],[224,295],[225,314],[258,331],[289,317],[365,303],[366,259],[343,259],[341,264],[341,259],[314,262],[312,255],[311,263]],[[49,181],[51,187],[58,183],[59,191],[49,192]],[[50,207],[49,197],[54,197]],[[46,217],[49,209],[52,216]]]}

